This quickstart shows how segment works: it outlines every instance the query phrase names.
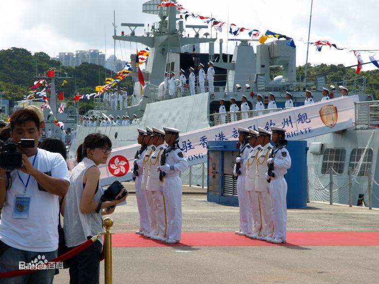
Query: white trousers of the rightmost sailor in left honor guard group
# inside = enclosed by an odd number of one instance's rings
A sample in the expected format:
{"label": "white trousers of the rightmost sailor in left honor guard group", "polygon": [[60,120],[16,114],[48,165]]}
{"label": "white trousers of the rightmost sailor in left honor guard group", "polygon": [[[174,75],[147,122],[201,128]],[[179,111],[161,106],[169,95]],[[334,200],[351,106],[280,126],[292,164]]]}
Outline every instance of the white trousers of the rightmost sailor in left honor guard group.
{"label": "white trousers of the rightmost sailor in left honor guard group", "polygon": [[163,180],[163,195],[166,204],[166,237],[180,241],[182,231],[182,181],[177,175]]}

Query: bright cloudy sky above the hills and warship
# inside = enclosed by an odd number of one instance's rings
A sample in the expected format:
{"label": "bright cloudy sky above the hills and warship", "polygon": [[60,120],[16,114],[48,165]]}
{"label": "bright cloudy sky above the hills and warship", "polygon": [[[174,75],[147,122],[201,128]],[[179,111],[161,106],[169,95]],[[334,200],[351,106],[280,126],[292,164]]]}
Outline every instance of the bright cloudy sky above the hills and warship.
{"label": "bright cloudy sky above the hills and warship", "polygon": [[[121,22],[148,23],[158,21],[154,15],[143,14],[144,0],[13,0],[1,1],[0,10],[7,11],[0,17],[0,49],[22,47],[32,52],[45,51],[51,56],[59,51],[99,49],[107,57],[113,53],[113,10],[116,10],[116,24]],[[308,38],[310,0],[182,0],[179,1],[190,11],[202,16],[215,17],[246,28],[265,31],[269,29],[295,39]],[[379,49],[377,34],[378,19],[371,17],[379,10],[379,1],[364,0],[314,0],[310,41],[327,39],[337,46],[354,49]],[[200,19],[189,17],[188,24],[205,24]],[[105,31],[106,30],[106,34]],[[226,51],[228,27],[224,25],[224,52]],[[118,34],[127,27],[118,27]],[[141,28],[136,34],[141,34]],[[192,36],[193,31],[188,30]],[[203,30],[202,33],[206,31]],[[208,31],[209,32],[209,31]],[[215,36],[213,29],[212,35]],[[231,36],[233,37],[233,36]],[[247,38],[241,33],[238,38]],[[297,46],[297,65],[304,64],[307,45],[295,41]],[[232,53],[235,42],[229,42],[227,51]],[[255,46],[256,43],[253,43]],[[218,52],[218,42],[215,51]],[[204,50],[205,45],[201,46]],[[138,44],[138,49],[144,46]],[[122,54],[121,54],[122,50]],[[116,55],[128,59],[135,52],[135,43],[117,42]],[[207,47],[205,48],[207,50]],[[364,61],[368,56],[363,54]],[[324,47],[321,52],[310,46],[309,60],[312,64],[356,64],[355,56],[346,50]],[[371,65],[364,69],[373,68]]]}

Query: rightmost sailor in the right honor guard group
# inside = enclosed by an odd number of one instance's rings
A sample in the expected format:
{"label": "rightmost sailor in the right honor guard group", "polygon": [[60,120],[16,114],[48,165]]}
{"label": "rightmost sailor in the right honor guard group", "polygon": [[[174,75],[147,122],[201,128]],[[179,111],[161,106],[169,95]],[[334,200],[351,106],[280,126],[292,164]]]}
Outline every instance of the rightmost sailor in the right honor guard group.
{"label": "rightmost sailor in the right honor guard group", "polygon": [[[272,204],[272,214],[274,219],[274,234],[271,242],[286,242],[287,228],[287,182],[284,175],[291,167],[291,157],[287,150],[287,140],[285,140],[285,129],[271,126],[271,140],[275,143],[273,149],[270,150],[269,165],[266,178],[270,180],[270,196]],[[270,166],[272,165],[272,166]],[[273,167],[273,169],[270,167]]]}

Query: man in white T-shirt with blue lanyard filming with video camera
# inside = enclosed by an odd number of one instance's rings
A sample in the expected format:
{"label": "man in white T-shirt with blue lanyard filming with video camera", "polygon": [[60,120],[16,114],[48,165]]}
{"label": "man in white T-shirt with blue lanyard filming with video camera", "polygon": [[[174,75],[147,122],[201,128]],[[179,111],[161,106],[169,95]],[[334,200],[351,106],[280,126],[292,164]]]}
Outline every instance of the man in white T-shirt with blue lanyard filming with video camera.
{"label": "man in white T-shirt with blue lanyard filming with video camera", "polygon": [[[12,140],[1,145],[0,153],[0,272],[17,270],[20,262],[29,264],[38,256],[57,256],[58,197],[69,188],[63,157],[37,148],[41,131],[36,113],[17,110],[10,127]],[[1,283],[51,284],[54,272],[43,269]]]}

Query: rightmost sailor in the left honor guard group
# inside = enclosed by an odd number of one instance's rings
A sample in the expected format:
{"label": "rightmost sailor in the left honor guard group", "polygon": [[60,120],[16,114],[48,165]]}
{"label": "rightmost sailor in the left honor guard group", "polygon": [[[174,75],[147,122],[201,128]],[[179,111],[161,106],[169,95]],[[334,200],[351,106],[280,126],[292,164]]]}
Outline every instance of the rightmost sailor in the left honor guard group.
{"label": "rightmost sailor in the left honor guard group", "polygon": [[180,241],[182,231],[182,180],[180,172],[188,168],[187,158],[179,147],[179,130],[163,127],[167,146],[163,150],[161,166],[157,169],[163,178],[163,195],[166,204],[167,227],[165,241]]}

